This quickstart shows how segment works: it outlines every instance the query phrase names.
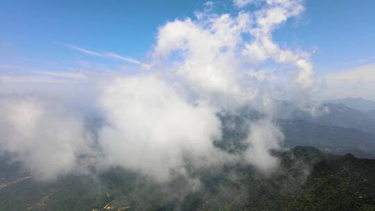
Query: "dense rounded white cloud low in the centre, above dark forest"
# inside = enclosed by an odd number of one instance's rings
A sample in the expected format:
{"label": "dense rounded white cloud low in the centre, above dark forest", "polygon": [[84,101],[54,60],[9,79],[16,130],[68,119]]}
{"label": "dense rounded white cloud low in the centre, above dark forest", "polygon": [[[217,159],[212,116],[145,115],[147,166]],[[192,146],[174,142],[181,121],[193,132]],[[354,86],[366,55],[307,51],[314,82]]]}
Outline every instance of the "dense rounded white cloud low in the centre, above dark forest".
{"label": "dense rounded white cloud low in the centre, above dark forest", "polygon": [[192,105],[156,76],[115,78],[103,87],[101,107],[109,126],[99,144],[104,164],[140,171],[158,181],[193,166],[221,163],[213,146],[221,137],[215,108]]}

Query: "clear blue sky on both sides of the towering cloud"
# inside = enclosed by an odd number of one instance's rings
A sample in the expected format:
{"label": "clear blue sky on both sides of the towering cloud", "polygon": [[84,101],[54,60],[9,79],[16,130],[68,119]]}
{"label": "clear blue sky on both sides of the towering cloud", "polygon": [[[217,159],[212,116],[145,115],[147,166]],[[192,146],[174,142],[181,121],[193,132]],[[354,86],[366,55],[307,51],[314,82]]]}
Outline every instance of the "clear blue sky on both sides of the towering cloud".
{"label": "clear blue sky on both sides of the towering cloud", "polygon": [[[193,17],[203,3],[1,1],[0,64],[72,68],[77,56],[83,55],[65,44],[144,60],[156,42],[158,26],[167,20]],[[219,3],[218,12],[236,11],[231,1]],[[375,1],[306,1],[306,12],[276,30],[274,40],[281,46],[315,50],[312,61],[317,74],[375,62],[373,8]]]}

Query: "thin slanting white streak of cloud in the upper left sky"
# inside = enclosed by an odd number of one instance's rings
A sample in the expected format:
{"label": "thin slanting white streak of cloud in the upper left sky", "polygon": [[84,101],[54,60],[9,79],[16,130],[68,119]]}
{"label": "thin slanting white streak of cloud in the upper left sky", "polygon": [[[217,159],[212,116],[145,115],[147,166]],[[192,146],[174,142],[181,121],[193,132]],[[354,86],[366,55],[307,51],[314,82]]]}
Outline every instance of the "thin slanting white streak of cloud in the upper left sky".
{"label": "thin slanting white streak of cloud in the upper left sky", "polygon": [[151,65],[140,62],[140,60],[136,60],[135,58],[131,58],[129,56],[121,56],[121,55],[119,55],[117,53],[113,53],[113,52],[100,53],[100,52],[96,52],[96,51],[90,51],[88,49],[83,49],[81,47],[76,47],[72,44],[66,44],[66,46],[69,47],[69,49],[73,49],[75,51],[80,51],[81,53],[85,53],[85,54],[88,54],[88,55],[91,55],[91,56],[97,56],[97,57],[101,57],[101,58],[114,58],[114,59],[117,59],[117,60],[122,60],[124,62],[131,63],[133,65],[141,65],[142,67],[145,67],[147,69],[149,69],[151,67]]}

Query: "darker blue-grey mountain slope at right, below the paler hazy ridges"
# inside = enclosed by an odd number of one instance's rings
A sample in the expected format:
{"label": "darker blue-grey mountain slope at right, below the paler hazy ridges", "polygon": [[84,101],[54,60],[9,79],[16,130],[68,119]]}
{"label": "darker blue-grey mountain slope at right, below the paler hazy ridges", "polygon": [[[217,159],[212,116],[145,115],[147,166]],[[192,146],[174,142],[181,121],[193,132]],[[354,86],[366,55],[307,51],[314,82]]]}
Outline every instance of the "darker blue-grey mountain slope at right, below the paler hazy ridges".
{"label": "darker blue-grey mountain slope at right, below the paler hazy ridges", "polygon": [[355,128],[326,126],[303,120],[280,120],[284,146],[314,146],[335,155],[353,153],[359,158],[375,158],[375,134]]}

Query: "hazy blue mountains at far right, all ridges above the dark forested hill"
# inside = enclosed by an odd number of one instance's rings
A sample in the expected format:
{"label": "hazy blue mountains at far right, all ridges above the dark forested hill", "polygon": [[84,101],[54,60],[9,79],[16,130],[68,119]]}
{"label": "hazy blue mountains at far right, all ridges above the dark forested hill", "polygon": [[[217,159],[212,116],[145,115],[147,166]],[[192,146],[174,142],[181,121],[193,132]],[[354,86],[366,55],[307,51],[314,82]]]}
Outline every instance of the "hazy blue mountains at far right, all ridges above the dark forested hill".
{"label": "hazy blue mountains at far right, all ridges above the dark forested hill", "polygon": [[285,144],[315,146],[335,154],[353,153],[361,158],[375,158],[375,110],[360,111],[342,103],[353,101],[368,103],[367,109],[373,103],[363,99],[326,102],[319,105],[314,114],[289,103],[282,104],[278,107],[283,114],[279,122],[285,133]]}

